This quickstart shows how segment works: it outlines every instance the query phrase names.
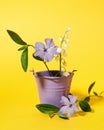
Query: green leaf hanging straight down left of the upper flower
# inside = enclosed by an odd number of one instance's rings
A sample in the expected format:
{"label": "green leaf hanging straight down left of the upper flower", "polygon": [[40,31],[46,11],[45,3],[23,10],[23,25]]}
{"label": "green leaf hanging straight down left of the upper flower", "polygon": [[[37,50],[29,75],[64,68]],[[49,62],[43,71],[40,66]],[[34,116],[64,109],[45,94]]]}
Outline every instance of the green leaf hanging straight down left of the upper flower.
{"label": "green leaf hanging straight down left of the upper flower", "polygon": [[26,72],[28,67],[28,48],[26,48],[21,55],[21,64],[23,70]]}

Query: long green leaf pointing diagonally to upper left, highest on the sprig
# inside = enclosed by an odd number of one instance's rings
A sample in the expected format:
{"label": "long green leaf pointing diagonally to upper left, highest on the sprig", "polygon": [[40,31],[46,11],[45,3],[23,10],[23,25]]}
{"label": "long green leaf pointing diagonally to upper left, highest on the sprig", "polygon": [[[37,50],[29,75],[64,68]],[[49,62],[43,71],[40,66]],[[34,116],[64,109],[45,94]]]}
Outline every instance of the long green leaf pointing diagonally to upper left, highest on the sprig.
{"label": "long green leaf pointing diagonally to upper left, highest on the sprig", "polygon": [[20,44],[20,45],[26,45],[26,43],[21,39],[21,37],[17,33],[13,32],[11,30],[7,30],[7,32],[14,42],[16,42],[17,44]]}

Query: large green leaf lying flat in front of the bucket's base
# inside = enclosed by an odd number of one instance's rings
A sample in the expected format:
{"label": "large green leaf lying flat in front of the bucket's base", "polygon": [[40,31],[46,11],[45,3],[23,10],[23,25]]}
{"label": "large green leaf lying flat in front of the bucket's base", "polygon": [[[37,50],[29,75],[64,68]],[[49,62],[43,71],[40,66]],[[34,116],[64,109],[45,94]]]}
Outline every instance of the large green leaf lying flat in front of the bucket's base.
{"label": "large green leaf lying flat in front of the bucket's base", "polygon": [[37,104],[36,108],[44,113],[44,114],[49,114],[52,115],[53,113],[57,113],[59,111],[59,108],[51,105],[51,104]]}

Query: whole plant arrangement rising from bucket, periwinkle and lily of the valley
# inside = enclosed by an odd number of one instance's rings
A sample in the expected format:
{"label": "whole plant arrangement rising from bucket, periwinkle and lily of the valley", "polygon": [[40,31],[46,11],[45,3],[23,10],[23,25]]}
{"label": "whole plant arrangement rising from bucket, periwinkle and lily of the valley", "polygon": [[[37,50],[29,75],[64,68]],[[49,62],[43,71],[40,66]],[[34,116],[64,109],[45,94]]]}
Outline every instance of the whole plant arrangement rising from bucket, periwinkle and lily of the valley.
{"label": "whole plant arrangement rising from bucket, periwinkle and lily of the valley", "polygon": [[18,51],[22,51],[21,54],[21,65],[23,70],[26,72],[28,68],[28,51],[29,47],[32,47],[34,49],[33,58],[41,61],[44,63],[46,69],[48,70],[50,76],[53,76],[51,73],[51,69],[48,67],[47,63],[52,61],[52,59],[56,58],[59,60],[59,73],[61,76],[62,68],[65,69],[65,59],[64,56],[66,56],[65,48],[68,46],[69,38],[68,38],[68,32],[70,29],[64,33],[62,37],[59,38],[59,46],[55,45],[52,38],[46,38],[45,44],[42,42],[36,42],[35,45],[27,44],[22,38],[14,31],[7,30],[9,36],[12,38],[12,40],[20,45],[20,48]]}

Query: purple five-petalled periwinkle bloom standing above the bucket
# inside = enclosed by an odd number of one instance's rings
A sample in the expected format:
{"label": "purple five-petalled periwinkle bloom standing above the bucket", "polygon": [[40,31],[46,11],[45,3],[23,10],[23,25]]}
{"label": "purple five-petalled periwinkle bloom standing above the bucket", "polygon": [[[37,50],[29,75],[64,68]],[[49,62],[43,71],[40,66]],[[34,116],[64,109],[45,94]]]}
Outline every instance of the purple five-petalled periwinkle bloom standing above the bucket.
{"label": "purple five-petalled periwinkle bloom standing above the bucket", "polygon": [[57,48],[58,46],[54,45],[53,39],[45,39],[46,46],[41,43],[37,42],[35,44],[34,56],[39,56],[40,58],[44,59],[46,62],[49,62],[53,59],[55,54],[58,54]]}

